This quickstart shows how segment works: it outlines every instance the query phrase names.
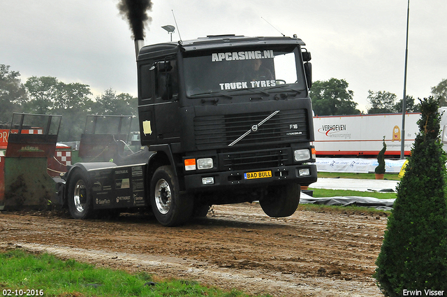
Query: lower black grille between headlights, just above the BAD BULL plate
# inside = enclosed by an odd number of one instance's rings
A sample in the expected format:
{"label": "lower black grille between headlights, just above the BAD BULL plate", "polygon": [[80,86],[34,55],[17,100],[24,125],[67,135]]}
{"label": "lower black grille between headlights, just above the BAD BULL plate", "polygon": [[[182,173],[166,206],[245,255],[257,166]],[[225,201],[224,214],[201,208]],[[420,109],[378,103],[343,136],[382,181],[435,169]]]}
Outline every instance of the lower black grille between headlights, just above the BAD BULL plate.
{"label": "lower black grille between headlights, just above the BAD BULL plate", "polygon": [[220,154],[223,170],[238,171],[284,166],[291,160],[291,148]]}

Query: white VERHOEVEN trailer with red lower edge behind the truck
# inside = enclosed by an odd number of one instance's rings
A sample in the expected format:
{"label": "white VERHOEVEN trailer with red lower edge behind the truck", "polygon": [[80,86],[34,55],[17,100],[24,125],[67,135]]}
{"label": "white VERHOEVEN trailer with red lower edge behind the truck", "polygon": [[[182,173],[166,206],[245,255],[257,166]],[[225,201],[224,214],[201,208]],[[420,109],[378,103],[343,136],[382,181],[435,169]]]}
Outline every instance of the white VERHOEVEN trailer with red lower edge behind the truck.
{"label": "white VERHOEVEN trailer with red lower edge behind the truck", "polygon": [[[418,119],[420,113],[405,115],[406,156],[410,154],[419,131]],[[444,119],[444,124],[441,122],[441,129],[444,125],[447,128],[447,119]],[[447,143],[447,129],[444,131]],[[402,113],[314,117],[314,145],[318,157],[376,157],[383,147],[383,137],[386,143],[386,156],[400,157],[401,132]],[[444,133],[441,135],[444,136]]]}

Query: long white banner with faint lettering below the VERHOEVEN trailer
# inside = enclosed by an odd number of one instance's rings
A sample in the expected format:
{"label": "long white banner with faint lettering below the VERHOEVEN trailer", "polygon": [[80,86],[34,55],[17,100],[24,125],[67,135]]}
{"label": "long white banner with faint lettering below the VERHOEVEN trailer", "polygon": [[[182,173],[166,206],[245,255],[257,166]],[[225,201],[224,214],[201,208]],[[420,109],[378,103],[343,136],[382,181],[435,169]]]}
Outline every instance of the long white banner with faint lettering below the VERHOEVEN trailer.
{"label": "long white banner with faint lettering below the VERHOEVEN trailer", "polygon": [[[400,173],[405,160],[385,160],[386,173]],[[379,165],[377,159],[360,158],[316,158],[318,172],[374,173]]]}

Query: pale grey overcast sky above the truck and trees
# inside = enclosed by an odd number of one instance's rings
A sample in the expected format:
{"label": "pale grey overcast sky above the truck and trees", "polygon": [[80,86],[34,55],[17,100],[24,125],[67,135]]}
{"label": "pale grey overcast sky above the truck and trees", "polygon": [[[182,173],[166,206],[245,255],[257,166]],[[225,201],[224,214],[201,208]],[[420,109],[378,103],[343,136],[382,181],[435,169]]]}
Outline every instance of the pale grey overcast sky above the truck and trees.
{"label": "pale grey overcast sky above the truck and trees", "polygon": [[[29,76],[112,87],[137,96],[131,30],[117,0],[0,0],[0,64]],[[217,34],[297,34],[312,52],[314,80],[345,79],[360,110],[368,89],[402,99],[407,0],[152,0],[145,43]],[[430,96],[447,78],[447,4],[411,0],[407,91]],[[270,22],[274,27],[268,24]],[[177,26],[175,26],[177,27]],[[179,33],[179,34],[178,34]]]}

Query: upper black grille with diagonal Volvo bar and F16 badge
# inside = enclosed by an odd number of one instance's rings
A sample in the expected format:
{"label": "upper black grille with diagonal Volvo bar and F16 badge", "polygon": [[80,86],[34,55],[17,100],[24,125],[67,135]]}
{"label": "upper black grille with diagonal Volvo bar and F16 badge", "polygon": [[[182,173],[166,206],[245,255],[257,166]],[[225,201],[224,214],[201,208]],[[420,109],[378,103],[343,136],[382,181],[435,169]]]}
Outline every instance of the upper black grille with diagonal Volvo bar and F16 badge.
{"label": "upper black grille with diagonal Volvo bar and F16 badge", "polygon": [[307,111],[280,110],[268,119],[257,131],[251,127],[272,115],[273,111],[263,113],[237,113],[233,115],[211,115],[194,118],[194,137],[199,150],[228,147],[244,133],[250,133],[234,145],[256,145],[298,142],[309,138]]}

